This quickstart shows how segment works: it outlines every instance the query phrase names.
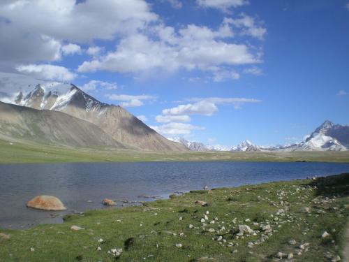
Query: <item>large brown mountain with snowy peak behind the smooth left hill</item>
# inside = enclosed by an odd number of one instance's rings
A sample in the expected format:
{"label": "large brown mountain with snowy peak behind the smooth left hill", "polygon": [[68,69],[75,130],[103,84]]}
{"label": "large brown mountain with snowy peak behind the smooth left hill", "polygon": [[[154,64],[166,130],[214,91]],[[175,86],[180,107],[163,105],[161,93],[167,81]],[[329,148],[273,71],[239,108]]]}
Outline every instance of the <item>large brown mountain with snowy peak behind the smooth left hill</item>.
{"label": "large brown mountain with snowy peak behind the smooth left hill", "polygon": [[[10,90],[10,91],[9,91]],[[72,84],[1,73],[1,100],[38,110],[54,110],[95,124],[123,145],[149,151],[186,151],[156,133],[119,105],[102,103]]]}

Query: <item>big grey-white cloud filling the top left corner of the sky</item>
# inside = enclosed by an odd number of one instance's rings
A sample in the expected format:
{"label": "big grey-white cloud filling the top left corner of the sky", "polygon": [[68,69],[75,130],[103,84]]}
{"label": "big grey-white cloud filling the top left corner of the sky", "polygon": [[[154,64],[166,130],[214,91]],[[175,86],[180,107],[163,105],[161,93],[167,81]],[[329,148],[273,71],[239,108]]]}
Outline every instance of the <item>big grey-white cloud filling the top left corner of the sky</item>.
{"label": "big grey-white cloud filling the top left corner of the sky", "polygon": [[112,40],[158,20],[144,0],[0,2],[0,66],[54,61],[61,43]]}

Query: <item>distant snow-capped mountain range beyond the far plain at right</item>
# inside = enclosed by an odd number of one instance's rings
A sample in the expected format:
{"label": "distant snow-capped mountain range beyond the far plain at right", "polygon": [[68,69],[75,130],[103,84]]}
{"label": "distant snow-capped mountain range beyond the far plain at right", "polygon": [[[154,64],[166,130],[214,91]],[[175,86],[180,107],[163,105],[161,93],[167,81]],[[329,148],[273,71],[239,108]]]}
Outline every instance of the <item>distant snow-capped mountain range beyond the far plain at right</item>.
{"label": "distant snow-capped mountain range beyond the far plain at right", "polygon": [[188,147],[191,151],[347,151],[349,150],[349,126],[333,124],[327,120],[301,143],[285,146],[262,147],[253,145],[249,140],[244,140],[239,145],[227,147],[222,145],[204,145],[199,142],[190,142],[184,138],[168,139]]}

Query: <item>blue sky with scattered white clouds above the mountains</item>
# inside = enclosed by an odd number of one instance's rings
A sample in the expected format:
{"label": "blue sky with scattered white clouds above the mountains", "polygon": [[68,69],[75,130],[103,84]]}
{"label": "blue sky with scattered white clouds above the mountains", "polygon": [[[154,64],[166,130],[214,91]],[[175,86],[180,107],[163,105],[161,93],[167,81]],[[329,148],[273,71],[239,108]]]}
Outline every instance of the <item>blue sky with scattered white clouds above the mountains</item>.
{"label": "blue sky with scattered white clouds above the mountains", "polygon": [[0,71],[73,82],[168,138],[295,143],[349,124],[349,1],[4,0]]}

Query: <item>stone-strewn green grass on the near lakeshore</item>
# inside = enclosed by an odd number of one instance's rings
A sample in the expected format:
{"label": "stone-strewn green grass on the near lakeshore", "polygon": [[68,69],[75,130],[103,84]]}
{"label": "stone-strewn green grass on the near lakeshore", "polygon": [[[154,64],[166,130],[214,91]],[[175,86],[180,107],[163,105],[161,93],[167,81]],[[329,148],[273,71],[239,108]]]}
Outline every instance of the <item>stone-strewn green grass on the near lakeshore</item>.
{"label": "stone-strewn green grass on the near lakeshore", "polygon": [[[198,200],[208,206],[195,204]],[[304,207],[309,213],[300,212]],[[207,211],[205,226],[201,219]],[[144,206],[69,215],[64,224],[0,230],[9,236],[0,236],[0,260],[252,262],[278,261],[278,252],[283,252],[292,253],[294,261],[331,261],[336,256],[343,259],[348,217],[349,174],[191,191]],[[255,235],[239,236],[239,225],[244,224]],[[272,233],[261,228],[267,224]],[[72,231],[73,225],[85,229]],[[324,231],[327,238],[322,238]],[[309,245],[299,248],[304,243]],[[120,256],[107,254],[119,248]]]}

